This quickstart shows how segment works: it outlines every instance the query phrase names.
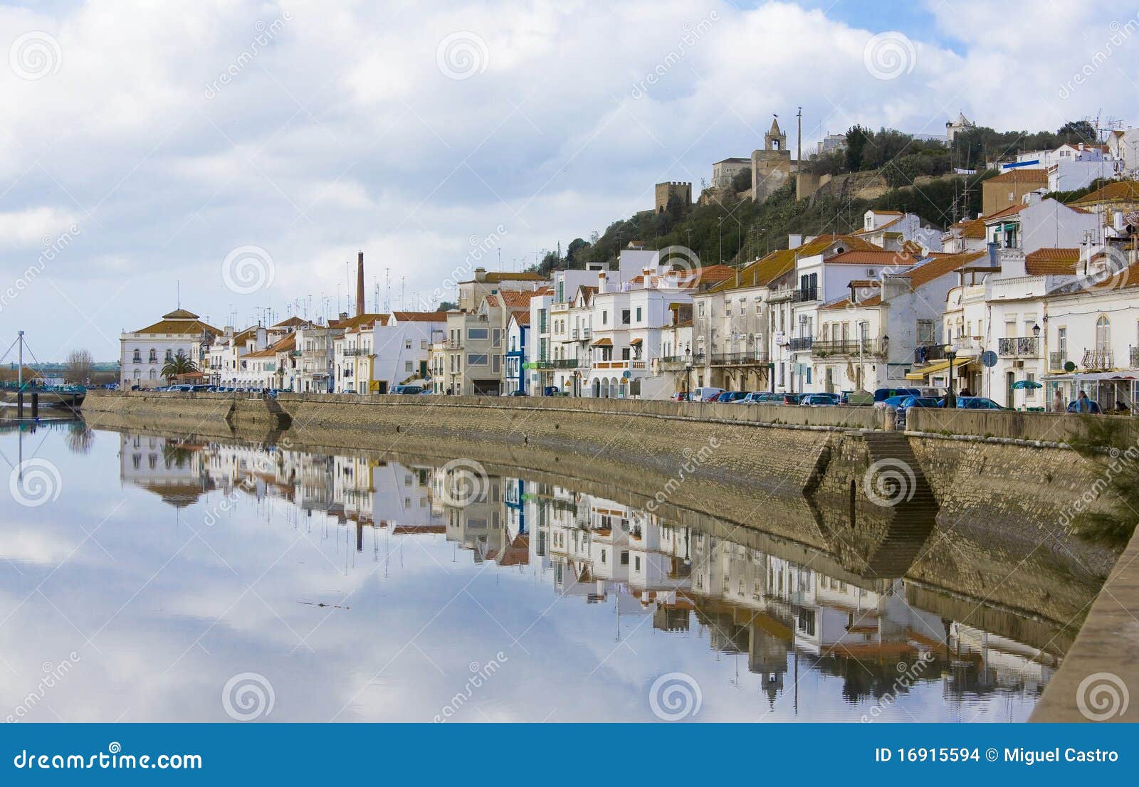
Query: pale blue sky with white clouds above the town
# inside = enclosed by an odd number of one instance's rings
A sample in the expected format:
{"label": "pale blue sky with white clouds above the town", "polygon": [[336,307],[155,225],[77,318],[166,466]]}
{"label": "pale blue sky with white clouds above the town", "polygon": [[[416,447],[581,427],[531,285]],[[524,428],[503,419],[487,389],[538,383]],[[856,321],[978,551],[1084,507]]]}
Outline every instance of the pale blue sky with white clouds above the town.
{"label": "pale blue sky with white clouds above the town", "polygon": [[530,264],[798,106],[804,146],[1139,121],[1133,10],[865,5],[0,6],[0,351],[117,358],[179,290],[218,326],[331,313],[358,249],[369,309],[386,277],[393,309],[450,297],[476,249]]}

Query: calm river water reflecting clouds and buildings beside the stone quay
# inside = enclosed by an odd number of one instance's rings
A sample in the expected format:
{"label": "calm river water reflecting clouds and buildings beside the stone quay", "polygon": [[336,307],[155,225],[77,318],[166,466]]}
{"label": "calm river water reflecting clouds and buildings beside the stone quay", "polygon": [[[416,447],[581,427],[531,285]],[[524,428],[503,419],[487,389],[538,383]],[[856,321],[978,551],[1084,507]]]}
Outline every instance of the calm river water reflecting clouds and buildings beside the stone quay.
{"label": "calm river water reflecting clouds and buildings beside the stone quay", "polygon": [[1059,663],[587,489],[74,426],[0,450],[0,715],[1016,721]]}

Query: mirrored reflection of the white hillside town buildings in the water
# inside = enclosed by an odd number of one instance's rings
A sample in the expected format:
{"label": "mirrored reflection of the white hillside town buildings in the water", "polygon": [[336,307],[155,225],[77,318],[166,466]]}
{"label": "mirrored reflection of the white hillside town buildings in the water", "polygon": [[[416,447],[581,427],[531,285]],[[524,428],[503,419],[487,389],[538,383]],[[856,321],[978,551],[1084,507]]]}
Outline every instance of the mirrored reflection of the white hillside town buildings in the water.
{"label": "mirrored reflection of the white hillside town buildings in the water", "polygon": [[[800,702],[790,698],[808,670],[838,679],[852,704],[920,684],[940,686],[953,703],[998,690],[1034,697],[1058,663],[1007,636],[1018,624],[983,630],[978,618],[993,616],[975,618],[980,605],[943,602],[919,583],[867,580],[838,567],[827,574],[812,566],[821,554],[753,540],[771,538],[754,528],[723,523],[723,532],[739,536],[721,538],[573,489],[489,475],[469,460],[441,468],[376,453],[122,440],[123,481],[173,506],[200,501],[222,519],[224,501],[254,500],[273,520],[338,533],[349,555],[370,543],[377,561],[380,532],[393,540],[443,536],[456,559],[469,552],[482,566],[532,572],[548,592],[605,606],[615,613],[618,639],[644,625],[657,637],[704,640],[718,658],[757,675],[772,705]],[[903,672],[909,682],[899,688]]]}

